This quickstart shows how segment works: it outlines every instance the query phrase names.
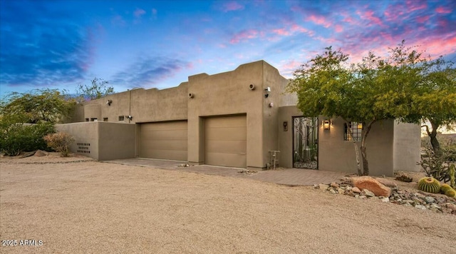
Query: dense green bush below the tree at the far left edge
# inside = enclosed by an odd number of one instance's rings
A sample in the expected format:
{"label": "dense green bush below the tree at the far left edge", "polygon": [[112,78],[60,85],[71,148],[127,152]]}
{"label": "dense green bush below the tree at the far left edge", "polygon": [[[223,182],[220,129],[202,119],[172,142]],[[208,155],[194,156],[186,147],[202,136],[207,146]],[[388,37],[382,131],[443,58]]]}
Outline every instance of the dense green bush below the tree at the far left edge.
{"label": "dense green bush below the tree at the far left edge", "polygon": [[43,136],[54,133],[53,123],[40,122],[2,123],[0,126],[0,151],[7,156],[17,156],[22,151],[49,151]]}

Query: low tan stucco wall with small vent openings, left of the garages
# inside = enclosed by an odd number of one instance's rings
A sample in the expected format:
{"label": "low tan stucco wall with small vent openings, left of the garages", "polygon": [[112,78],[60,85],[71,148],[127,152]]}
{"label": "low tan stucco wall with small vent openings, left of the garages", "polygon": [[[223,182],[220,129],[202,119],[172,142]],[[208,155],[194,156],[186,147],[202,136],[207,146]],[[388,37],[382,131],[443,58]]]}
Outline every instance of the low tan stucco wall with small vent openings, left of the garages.
{"label": "low tan stucco wall with small vent openings, left of the garages", "polygon": [[75,138],[71,145],[72,153],[98,161],[134,158],[135,128],[134,124],[100,121],[56,125],[57,131],[64,131]]}

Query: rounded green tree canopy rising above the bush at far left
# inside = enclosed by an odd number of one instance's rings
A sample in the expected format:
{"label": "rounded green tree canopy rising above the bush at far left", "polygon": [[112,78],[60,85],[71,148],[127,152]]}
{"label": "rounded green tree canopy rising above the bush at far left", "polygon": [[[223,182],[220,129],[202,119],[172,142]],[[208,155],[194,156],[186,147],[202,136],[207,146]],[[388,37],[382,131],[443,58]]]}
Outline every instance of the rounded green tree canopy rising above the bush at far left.
{"label": "rounded green tree canopy rising above the bush at far left", "polygon": [[0,101],[0,121],[6,123],[57,123],[69,116],[75,105],[66,94],[53,89],[10,93]]}

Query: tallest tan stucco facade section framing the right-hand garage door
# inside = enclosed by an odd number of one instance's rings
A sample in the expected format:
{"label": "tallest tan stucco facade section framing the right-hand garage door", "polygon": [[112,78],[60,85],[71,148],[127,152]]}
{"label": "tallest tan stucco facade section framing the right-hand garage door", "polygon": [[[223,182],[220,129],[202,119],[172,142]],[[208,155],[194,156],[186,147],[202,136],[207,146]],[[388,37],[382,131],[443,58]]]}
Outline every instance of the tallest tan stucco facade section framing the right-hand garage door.
{"label": "tallest tan stucco facade section framing the right-hand garage door", "polygon": [[[204,163],[204,121],[209,116],[247,114],[247,167],[264,167],[264,61],[243,64],[234,71],[189,77],[188,160]],[[249,85],[256,88],[252,91]]]}

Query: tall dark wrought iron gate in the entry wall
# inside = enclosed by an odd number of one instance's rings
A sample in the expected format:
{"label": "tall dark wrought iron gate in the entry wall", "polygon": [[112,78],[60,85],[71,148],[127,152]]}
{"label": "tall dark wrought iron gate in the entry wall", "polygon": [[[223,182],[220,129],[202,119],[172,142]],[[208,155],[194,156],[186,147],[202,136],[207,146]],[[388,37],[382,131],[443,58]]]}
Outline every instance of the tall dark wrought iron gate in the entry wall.
{"label": "tall dark wrought iron gate in the entry wall", "polygon": [[318,169],[318,118],[293,118],[293,166]]}

